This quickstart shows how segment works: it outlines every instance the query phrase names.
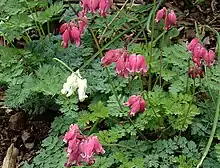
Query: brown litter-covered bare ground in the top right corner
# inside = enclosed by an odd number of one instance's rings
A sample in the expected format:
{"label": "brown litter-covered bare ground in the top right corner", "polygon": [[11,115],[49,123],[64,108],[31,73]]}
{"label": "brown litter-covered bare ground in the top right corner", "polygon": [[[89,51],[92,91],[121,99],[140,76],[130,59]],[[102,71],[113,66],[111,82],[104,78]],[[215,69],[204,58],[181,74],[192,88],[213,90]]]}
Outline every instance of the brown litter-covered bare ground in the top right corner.
{"label": "brown litter-covered bare ground in the top right corner", "polygon": [[191,40],[196,37],[195,23],[198,25],[200,37],[207,48],[216,46],[216,35],[206,27],[220,31],[220,1],[205,0],[205,2],[193,6],[187,2],[192,0],[170,0],[166,7],[174,9],[178,14],[178,24],[183,26],[182,39]]}

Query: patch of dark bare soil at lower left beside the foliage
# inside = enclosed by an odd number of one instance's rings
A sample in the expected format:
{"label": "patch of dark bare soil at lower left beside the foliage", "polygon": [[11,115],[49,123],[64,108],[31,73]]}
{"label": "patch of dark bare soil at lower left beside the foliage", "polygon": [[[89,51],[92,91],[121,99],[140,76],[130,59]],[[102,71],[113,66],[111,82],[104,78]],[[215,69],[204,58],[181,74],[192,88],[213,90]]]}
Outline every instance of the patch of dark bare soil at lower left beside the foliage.
{"label": "patch of dark bare soil at lower left beside the foliage", "polygon": [[50,130],[50,121],[27,119],[23,112],[11,111],[3,105],[4,92],[0,90],[0,165],[11,143],[19,149],[17,163],[30,160],[40,149],[40,143]]}

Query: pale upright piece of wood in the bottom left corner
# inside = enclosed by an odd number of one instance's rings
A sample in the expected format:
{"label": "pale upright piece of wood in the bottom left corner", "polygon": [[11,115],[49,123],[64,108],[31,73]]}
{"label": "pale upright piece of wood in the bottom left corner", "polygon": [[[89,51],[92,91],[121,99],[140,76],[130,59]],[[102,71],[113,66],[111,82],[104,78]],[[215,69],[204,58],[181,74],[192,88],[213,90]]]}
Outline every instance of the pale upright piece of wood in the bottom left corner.
{"label": "pale upright piece of wood in the bottom left corner", "polygon": [[16,168],[16,160],[18,154],[19,154],[19,150],[12,143],[7,150],[2,168]]}

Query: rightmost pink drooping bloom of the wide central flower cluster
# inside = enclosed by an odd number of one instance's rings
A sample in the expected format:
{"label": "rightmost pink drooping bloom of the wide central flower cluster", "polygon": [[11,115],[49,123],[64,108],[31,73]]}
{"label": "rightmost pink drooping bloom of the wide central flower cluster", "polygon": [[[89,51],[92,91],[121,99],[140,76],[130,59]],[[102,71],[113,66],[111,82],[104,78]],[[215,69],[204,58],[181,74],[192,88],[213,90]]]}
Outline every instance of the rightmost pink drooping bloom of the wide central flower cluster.
{"label": "rightmost pink drooping bloom of the wide central flower cluster", "polygon": [[142,55],[132,54],[129,56],[129,67],[127,68],[132,74],[141,73],[145,75],[147,72],[147,64],[145,57]]}

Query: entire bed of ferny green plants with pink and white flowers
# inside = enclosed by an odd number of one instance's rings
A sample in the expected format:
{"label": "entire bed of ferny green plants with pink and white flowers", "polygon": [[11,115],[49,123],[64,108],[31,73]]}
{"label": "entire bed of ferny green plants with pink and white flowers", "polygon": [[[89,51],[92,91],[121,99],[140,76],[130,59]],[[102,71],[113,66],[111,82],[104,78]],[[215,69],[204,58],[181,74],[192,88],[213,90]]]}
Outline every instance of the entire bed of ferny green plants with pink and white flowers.
{"label": "entire bed of ferny green plants with pink and white flowers", "polygon": [[[5,103],[29,116],[59,111],[23,168],[198,165],[216,119],[220,65],[201,39],[175,43],[178,15],[159,5],[0,2]],[[220,167],[220,145],[210,150],[203,167]]]}

